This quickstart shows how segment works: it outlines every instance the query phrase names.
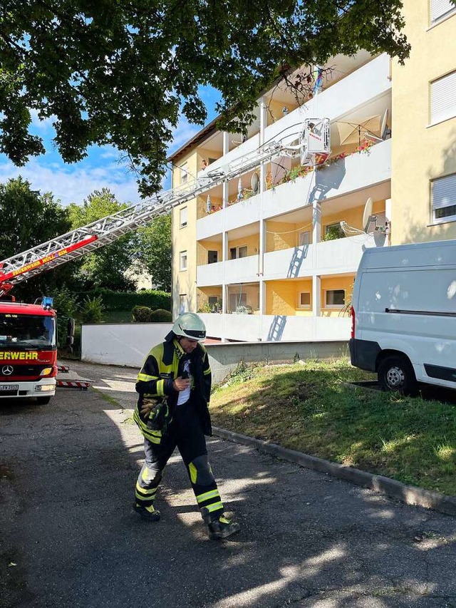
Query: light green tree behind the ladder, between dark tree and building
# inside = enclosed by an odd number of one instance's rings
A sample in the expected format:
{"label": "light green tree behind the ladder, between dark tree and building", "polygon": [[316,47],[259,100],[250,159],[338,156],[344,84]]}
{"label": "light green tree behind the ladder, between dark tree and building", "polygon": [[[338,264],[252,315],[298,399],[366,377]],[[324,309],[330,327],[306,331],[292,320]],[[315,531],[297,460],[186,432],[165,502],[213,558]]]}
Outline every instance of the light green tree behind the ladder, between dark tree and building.
{"label": "light green tree behind the ladder, between dark tree and building", "polygon": [[[84,200],[83,205],[72,203],[68,206],[68,216],[74,230],[125,209],[108,188],[95,190]],[[118,291],[132,291],[135,283],[125,277],[125,270],[133,263],[135,237],[133,234],[116,239],[93,253],[83,256],[78,279],[81,289],[106,287]]]}

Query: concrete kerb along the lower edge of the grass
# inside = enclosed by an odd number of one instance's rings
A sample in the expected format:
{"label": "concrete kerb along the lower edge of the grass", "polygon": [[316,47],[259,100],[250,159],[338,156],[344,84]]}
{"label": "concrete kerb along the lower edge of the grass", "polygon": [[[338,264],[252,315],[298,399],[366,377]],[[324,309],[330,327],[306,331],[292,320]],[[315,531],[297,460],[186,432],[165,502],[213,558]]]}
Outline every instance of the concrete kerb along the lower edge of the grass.
{"label": "concrete kerb along the lower edge of the grass", "polygon": [[276,456],[276,458],[288,460],[304,468],[317,470],[320,473],[327,473],[335,478],[361,485],[363,488],[375,490],[375,492],[385,494],[395,500],[400,500],[407,505],[425,507],[425,509],[432,509],[446,515],[452,515],[453,517],[456,516],[456,497],[454,496],[416,488],[413,485],[406,485],[400,481],[383,477],[383,475],[373,475],[373,473],[366,473],[363,470],[339,465],[338,463],[331,463],[329,460],[323,460],[323,458],[316,458],[316,456],[296,452],[296,450],[282,448],[281,445],[276,445],[276,443],[239,435],[239,433],[233,433],[224,428],[214,427],[213,433],[222,439],[242,443],[243,445],[251,445],[261,452]]}

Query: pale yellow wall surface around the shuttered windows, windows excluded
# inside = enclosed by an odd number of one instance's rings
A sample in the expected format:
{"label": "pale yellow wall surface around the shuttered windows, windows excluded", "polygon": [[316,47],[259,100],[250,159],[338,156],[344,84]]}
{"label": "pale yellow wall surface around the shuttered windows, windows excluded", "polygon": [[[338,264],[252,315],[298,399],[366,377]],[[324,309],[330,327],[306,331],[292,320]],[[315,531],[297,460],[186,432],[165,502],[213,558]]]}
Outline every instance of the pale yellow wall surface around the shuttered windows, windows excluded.
{"label": "pale yellow wall surface around the shuttered windows, windows excluded", "polygon": [[456,70],[456,15],[430,26],[427,0],[403,0],[412,46],[393,61],[391,244],[456,238],[456,223],[432,225],[430,182],[456,172],[456,118],[430,124],[430,83]]}

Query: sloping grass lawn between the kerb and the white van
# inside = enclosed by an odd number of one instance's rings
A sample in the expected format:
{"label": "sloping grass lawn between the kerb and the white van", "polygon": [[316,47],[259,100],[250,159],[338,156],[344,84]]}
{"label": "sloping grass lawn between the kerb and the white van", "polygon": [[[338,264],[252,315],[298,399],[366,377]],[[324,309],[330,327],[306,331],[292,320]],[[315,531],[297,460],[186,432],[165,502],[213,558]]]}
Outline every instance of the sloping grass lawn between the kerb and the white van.
{"label": "sloping grass lawn between the kerb and the white van", "polygon": [[214,388],[214,426],[456,495],[453,403],[349,388],[375,379],[347,359],[244,366]]}

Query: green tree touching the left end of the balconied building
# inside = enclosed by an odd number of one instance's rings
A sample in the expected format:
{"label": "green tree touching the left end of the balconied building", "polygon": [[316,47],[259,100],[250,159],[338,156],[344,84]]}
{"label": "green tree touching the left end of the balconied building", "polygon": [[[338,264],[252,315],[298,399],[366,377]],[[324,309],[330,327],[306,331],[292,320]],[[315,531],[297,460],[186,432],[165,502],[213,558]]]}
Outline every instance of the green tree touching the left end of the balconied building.
{"label": "green tree touching the left end of the balconied building", "polygon": [[152,285],[163,292],[171,291],[171,215],[160,215],[149,225],[138,229],[137,260],[152,277]]}

